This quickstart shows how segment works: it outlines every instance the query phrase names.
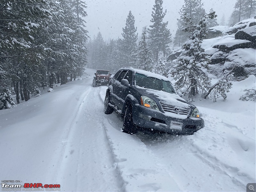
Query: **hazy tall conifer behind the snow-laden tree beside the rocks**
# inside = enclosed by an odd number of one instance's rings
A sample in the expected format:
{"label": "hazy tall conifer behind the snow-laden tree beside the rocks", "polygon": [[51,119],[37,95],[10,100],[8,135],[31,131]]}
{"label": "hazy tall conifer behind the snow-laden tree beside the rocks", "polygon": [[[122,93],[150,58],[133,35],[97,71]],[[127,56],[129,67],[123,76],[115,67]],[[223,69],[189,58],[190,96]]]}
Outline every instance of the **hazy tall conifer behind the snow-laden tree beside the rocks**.
{"label": "hazy tall conifer behind the snow-laden tree beside the rocks", "polygon": [[180,46],[187,40],[189,36],[188,32],[182,30],[183,28],[188,27],[188,23],[186,20],[184,20],[184,16],[186,15],[190,17],[193,23],[198,23],[202,15],[205,14],[203,5],[204,4],[201,2],[201,0],[184,0],[184,4],[182,5],[182,8],[179,12],[180,19],[177,19],[178,29],[174,37],[174,45]]}

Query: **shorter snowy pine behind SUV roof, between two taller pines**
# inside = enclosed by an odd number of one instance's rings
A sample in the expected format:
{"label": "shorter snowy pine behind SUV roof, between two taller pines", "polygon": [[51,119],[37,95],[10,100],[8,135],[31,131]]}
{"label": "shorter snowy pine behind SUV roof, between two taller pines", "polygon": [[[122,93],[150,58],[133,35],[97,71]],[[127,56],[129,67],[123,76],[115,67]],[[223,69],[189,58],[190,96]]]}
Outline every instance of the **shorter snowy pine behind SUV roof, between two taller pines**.
{"label": "shorter snowy pine behind SUV roof, between two taller pines", "polygon": [[138,46],[138,59],[136,63],[136,67],[146,70],[146,71],[152,71],[153,69],[153,53],[151,50],[148,49],[148,42],[147,39],[147,28],[145,27],[142,31],[142,37],[139,42]]}

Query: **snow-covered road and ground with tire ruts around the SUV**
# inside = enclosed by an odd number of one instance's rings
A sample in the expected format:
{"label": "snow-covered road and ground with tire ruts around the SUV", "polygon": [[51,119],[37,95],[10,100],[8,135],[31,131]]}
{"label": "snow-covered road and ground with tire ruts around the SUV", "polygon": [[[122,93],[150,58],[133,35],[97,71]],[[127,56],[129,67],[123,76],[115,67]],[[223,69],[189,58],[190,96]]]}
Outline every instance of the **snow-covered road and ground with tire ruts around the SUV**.
{"label": "snow-covered road and ground with tire ruts around the SUV", "polygon": [[255,182],[255,108],[199,107],[205,128],[191,136],[129,135],[116,112],[104,114],[106,89],[89,75],[1,110],[0,179],[61,191],[245,191]]}

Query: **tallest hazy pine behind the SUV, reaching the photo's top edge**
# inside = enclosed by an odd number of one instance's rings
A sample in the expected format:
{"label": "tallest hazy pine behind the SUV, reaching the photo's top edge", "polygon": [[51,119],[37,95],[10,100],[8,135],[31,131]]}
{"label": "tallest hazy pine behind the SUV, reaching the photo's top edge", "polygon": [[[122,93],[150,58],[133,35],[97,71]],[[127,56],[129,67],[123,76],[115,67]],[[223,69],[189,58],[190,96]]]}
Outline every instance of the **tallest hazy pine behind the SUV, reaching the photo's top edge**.
{"label": "tallest hazy pine behind the SUV, reaching the photo's top edge", "polygon": [[158,53],[163,51],[164,54],[166,50],[169,48],[170,40],[170,30],[167,29],[168,21],[166,23],[163,22],[164,16],[166,14],[166,10],[163,12],[163,0],[155,0],[155,5],[152,11],[152,19],[150,20],[153,24],[149,25],[149,39],[151,50],[153,54],[158,60]]}

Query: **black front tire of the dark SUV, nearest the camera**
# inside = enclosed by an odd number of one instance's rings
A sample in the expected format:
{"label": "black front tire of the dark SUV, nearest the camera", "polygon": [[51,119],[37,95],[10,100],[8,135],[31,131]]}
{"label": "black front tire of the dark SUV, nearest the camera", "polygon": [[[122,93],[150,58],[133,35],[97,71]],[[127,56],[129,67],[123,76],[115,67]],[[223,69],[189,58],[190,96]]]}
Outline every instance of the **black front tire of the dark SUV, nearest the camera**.
{"label": "black front tire of the dark SUV, nearest the camera", "polygon": [[133,124],[132,120],[132,106],[128,105],[124,114],[123,132],[134,134],[137,132],[137,126]]}

